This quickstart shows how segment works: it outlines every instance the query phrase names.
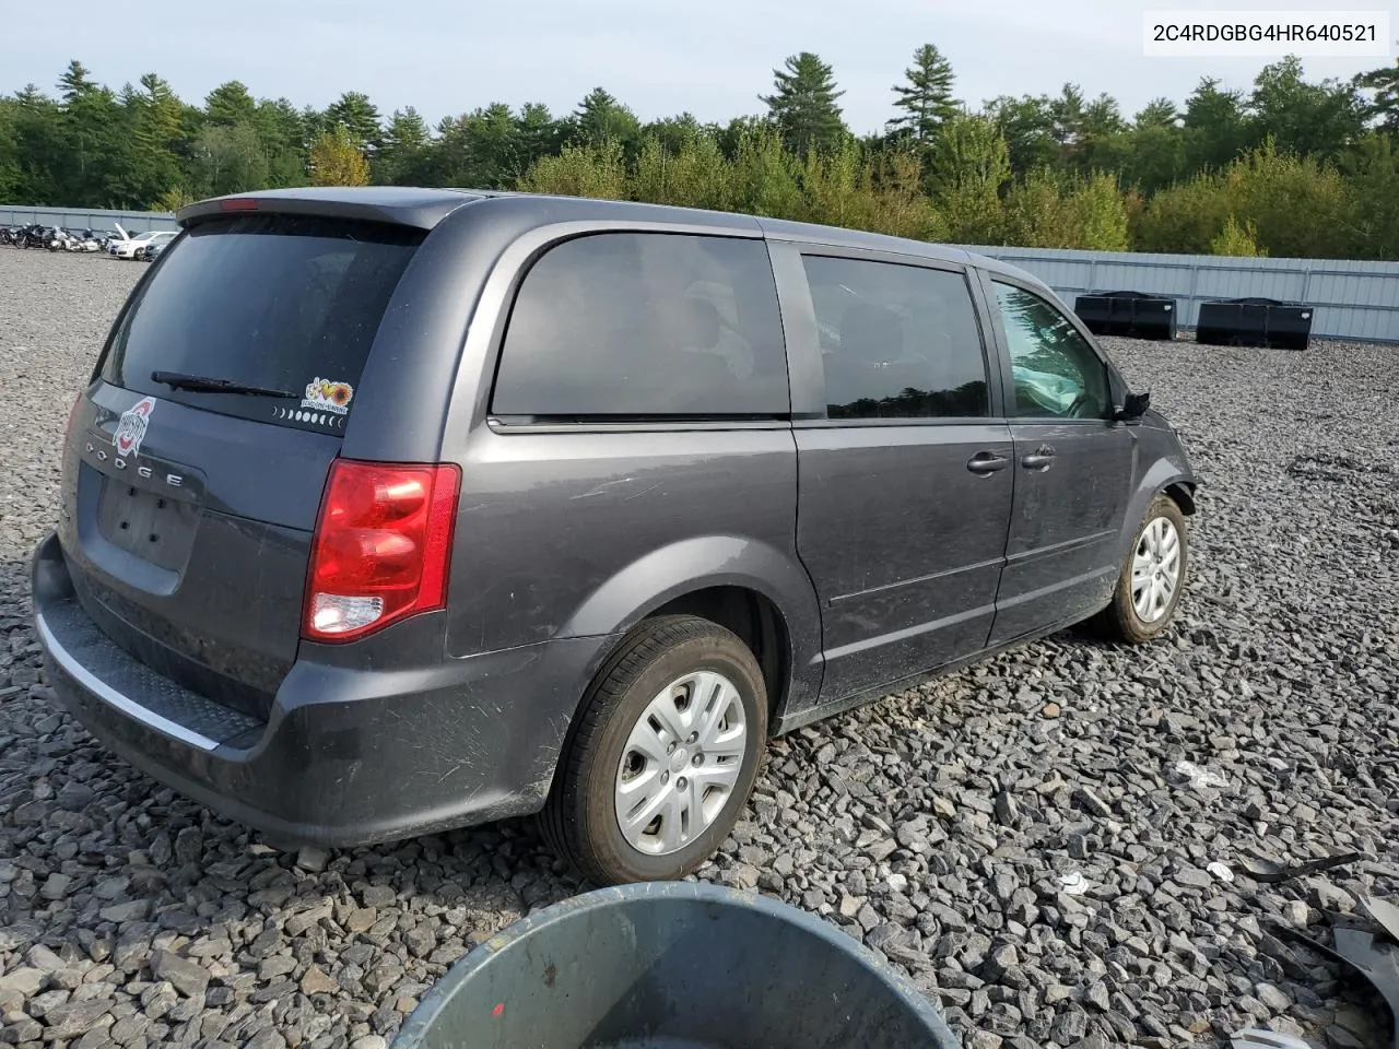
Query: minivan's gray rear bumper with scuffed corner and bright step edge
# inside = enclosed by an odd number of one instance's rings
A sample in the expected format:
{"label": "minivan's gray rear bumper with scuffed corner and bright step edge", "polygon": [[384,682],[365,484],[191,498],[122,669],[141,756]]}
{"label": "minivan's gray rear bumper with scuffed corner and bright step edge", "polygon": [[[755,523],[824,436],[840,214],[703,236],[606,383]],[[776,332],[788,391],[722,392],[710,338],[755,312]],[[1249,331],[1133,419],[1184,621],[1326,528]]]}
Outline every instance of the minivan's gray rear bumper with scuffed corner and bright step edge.
{"label": "minivan's gray rear bumper with scuffed corner and bright step edge", "polygon": [[32,587],[49,683],[94,737],[238,822],[327,846],[537,811],[609,648],[609,638],[569,638],[381,670],[353,666],[353,646],[304,645],[262,722],[106,638],[52,534],[35,552]]}

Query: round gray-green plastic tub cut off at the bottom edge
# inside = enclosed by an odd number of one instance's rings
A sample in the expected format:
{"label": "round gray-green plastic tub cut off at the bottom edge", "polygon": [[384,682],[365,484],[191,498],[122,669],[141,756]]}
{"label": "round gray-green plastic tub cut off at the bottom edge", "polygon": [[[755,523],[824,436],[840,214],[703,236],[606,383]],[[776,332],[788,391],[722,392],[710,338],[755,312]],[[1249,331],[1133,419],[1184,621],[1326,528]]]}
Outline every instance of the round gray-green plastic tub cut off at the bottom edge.
{"label": "round gray-green plastic tub cut off at the bottom edge", "polygon": [[667,881],[544,908],[453,965],[393,1049],[958,1049],[907,978],[785,904]]}

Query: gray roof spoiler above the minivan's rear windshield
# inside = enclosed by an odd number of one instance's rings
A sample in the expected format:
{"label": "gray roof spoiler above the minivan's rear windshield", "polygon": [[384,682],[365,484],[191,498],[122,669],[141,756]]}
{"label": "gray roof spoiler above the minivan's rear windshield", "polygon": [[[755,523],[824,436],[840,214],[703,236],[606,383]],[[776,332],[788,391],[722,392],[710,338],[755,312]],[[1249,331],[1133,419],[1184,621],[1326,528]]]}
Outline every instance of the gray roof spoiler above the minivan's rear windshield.
{"label": "gray roof spoiler above the minivan's rear windshield", "polygon": [[186,204],[175,213],[180,228],[229,214],[315,215],[367,222],[390,222],[431,229],[480,194],[452,189],[407,189],[397,186],[306,186],[210,197]]}

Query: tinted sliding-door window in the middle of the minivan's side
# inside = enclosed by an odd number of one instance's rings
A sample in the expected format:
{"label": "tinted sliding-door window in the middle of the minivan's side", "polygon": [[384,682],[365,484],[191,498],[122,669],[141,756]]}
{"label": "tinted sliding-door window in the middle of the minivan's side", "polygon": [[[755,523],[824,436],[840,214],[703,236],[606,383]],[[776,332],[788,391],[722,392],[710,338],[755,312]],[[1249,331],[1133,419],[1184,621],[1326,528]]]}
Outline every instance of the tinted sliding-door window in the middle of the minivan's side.
{"label": "tinted sliding-door window in the middle of the minivan's side", "polygon": [[960,273],[803,257],[831,418],[989,414],[981,329]]}

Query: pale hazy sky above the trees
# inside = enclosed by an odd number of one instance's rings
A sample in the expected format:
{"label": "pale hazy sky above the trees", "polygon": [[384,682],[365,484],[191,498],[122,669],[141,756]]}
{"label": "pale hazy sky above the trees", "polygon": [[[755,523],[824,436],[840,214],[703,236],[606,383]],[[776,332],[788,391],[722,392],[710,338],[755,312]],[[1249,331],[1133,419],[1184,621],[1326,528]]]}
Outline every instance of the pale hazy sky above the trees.
{"label": "pale hazy sky above the trees", "polygon": [[[1272,59],[1144,57],[1146,10],[1388,10],[1399,0],[0,0],[0,92],[53,94],[70,59],[113,90],[154,71],[186,101],[241,80],[259,98],[323,108],[362,91],[385,116],[413,105],[429,122],[490,102],[574,109],[595,87],[642,120],[690,110],[727,122],[758,113],[788,55],[828,62],[846,123],[877,131],[915,48],[951,62],[957,97],[1115,97],[1126,115],[1182,102],[1200,77],[1247,88]],[[8,10],[4,10],[8,8]],[[1391,43],[1391,55],[1393,46]],[[1372,59],[1304,59],[1308,78],[1349,78]]]}

